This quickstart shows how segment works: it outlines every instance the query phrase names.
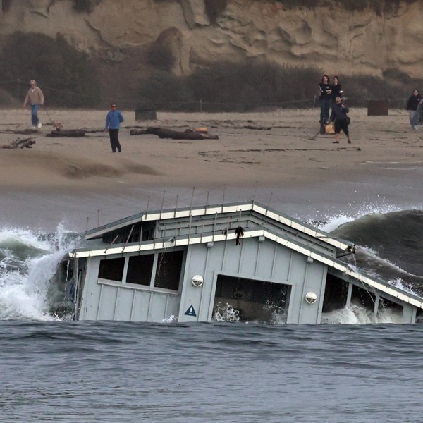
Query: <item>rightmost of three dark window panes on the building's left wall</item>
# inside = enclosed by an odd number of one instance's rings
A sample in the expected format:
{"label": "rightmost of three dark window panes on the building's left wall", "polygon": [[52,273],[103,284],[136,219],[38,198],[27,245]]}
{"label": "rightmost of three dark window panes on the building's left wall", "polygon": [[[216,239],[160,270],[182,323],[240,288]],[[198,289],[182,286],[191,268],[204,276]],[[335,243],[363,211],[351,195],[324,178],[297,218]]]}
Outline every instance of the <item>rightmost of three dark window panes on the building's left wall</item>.
{"label": "rightmost of three dark window panes on the building's left wall", "polygon": [[161,252],[157,260],[154,286],[178,290],[182,270],[183,251]]}

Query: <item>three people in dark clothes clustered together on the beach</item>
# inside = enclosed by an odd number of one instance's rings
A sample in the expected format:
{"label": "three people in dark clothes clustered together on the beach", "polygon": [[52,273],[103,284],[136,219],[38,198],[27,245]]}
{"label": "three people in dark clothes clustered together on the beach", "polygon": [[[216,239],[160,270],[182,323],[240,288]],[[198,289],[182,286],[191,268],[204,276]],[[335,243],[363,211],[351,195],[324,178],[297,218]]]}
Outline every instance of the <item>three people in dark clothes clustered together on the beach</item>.
{"label": "three people in dark clothes clustered together on the beach", "polygon": [[[341,130],[347,136],[348,144],[351,143],[350,133],[348,131],[350,118],[347,116],[350,109],[343,102],[342,94],[343,90],[337,76],[333,77],[332,84],[328,75],[321,77],[321,82],[319,83],[320,129],[321,133],[325,133],[326,125],[333,122],[333,128],[335,130],[334,144],[339,143]],[[329,111],[331,111],[330,116]]]}

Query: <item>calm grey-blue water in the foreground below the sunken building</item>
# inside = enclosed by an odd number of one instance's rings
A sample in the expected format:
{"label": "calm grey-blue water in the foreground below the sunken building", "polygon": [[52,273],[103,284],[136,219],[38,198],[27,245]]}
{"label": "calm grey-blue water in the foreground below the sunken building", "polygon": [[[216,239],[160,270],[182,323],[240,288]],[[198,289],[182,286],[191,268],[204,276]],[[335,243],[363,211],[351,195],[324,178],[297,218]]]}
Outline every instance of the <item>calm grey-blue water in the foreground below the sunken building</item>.
{"label": "calm grey-blue water in the foreground below the sunken building", "polygon": [[0,324],[1,422],[421,422],[420,325]]}

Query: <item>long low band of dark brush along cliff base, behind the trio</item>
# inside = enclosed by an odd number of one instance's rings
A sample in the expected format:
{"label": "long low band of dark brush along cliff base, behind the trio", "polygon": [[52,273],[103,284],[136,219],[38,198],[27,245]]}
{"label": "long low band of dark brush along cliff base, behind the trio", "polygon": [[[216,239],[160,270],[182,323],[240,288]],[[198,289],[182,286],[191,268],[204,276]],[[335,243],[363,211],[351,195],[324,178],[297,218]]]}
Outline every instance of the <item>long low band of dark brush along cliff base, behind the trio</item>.
{"label": "long low band of dark brush along cliff base, behind the trio", "polygon": [[[175,111],[247,111],[268,108],[304,108],[317,105],[319,68],[279,66],[247,59],[219,62],[198,68],[185,77],[153,72],[140,82],[137,98],[146,106]],[[383,78],[373,75],[338,75],[350,106],[367,106],[369,99],[388,99],[401,108],[423,80],[388,69]],[[330,75],[333,78],[333,75]]]}

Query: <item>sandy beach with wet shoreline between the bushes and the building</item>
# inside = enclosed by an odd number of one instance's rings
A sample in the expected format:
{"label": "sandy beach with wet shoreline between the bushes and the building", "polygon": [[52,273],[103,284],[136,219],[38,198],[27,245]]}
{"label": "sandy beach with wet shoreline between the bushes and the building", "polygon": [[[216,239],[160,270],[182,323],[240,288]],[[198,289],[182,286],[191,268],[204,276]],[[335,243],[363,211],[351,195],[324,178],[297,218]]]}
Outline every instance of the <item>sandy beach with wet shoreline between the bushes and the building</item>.
{"label": "sandy beach with wet shoreline between the bushes and the building", "polygon": [[[30,149],[0,149],[3,224],[82,230],[146,207],[254,198],[304,219],[362,207],[421,207],[423,132],[406,111],[350,113],[345,135],[317,135],[319,109],[261,113],[158,113],[136,121],[122,110],[122,152],[112,154],[104,111],[41,110],[34,134],[27,110],[0,111],[0,145],[32,137]],[[84,137],[47,137],[51,123],[85,129]],[[131,128],[207,127],[218,140],[130,135]]]}

